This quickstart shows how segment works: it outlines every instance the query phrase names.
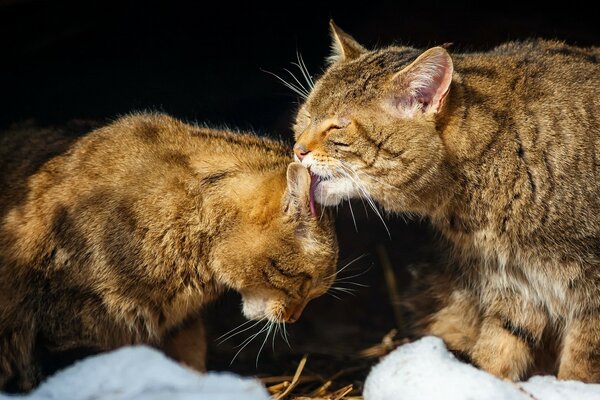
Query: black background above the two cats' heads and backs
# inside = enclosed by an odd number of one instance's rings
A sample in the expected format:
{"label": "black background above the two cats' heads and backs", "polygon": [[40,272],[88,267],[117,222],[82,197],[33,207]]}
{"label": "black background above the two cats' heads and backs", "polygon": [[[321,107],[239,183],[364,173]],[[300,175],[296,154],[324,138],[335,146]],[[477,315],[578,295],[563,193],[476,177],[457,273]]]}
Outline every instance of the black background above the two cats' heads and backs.
{"label": "black background above the two cats' heads and backs", "polygon": [[332,17],[367,47],[598,44],[583,5],[480,3],[0,0],[0,126],[150,109],[289,137],[297,99],[261,69],[283,74],[298,50],[318,76]]}

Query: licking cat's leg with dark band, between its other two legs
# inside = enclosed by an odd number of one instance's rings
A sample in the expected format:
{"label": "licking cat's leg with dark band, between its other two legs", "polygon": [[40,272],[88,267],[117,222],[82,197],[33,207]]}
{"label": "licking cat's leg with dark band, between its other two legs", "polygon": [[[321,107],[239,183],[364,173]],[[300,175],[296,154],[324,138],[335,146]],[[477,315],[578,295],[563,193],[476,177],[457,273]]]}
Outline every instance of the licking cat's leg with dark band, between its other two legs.
{"label": "licking cat's leg with dark band, between its other two legs", "polygon": [[534,361],[548,317],[518,295],[497,295],[484,312],[473,362],[501,378],[519,380]]}

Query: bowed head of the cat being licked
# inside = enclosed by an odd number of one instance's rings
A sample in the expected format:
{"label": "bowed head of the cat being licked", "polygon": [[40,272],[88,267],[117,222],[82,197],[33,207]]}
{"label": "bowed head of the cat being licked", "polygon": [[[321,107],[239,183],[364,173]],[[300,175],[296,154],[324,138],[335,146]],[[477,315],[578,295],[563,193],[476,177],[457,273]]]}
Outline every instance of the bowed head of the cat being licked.
{"label": "bowed head of the cat being licked", "polygon": [[245,201],[241,223],[221,246],[229,265],[219,269],[220,278],[241,293],[249,319],[295,322],[336,278],[333,218],[327,210],[316,213],[310,186],[308,170],[291,163],[286,177],[267,180]]}

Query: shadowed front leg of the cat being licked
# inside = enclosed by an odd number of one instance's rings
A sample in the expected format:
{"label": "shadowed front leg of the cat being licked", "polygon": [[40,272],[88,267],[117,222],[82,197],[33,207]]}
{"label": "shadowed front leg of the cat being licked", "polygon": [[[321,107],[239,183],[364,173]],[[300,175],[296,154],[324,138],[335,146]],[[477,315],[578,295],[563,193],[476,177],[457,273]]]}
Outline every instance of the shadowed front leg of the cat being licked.
{"label": "shadowed front leg of the cat being licked", "polygon": [[200,317],[187,321],[166,339],[164,352],[171,358],[194,368],[206,371],[206,336]]}

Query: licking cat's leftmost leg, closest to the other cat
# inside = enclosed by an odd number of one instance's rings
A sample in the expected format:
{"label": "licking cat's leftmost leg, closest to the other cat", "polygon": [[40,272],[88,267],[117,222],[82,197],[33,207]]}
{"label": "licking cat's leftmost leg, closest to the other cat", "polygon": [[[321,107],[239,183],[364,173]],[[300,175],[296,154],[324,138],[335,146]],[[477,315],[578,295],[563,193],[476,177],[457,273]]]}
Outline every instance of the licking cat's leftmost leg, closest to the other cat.
{"label": "licking cat's leftmost leg, closest to the other cat", "polygon": [[449,350],[470,359],[479,337],[481,315],[478,299],[466,289],[455,289],[444,306],[430,317],[425,334],[442,338]]}

